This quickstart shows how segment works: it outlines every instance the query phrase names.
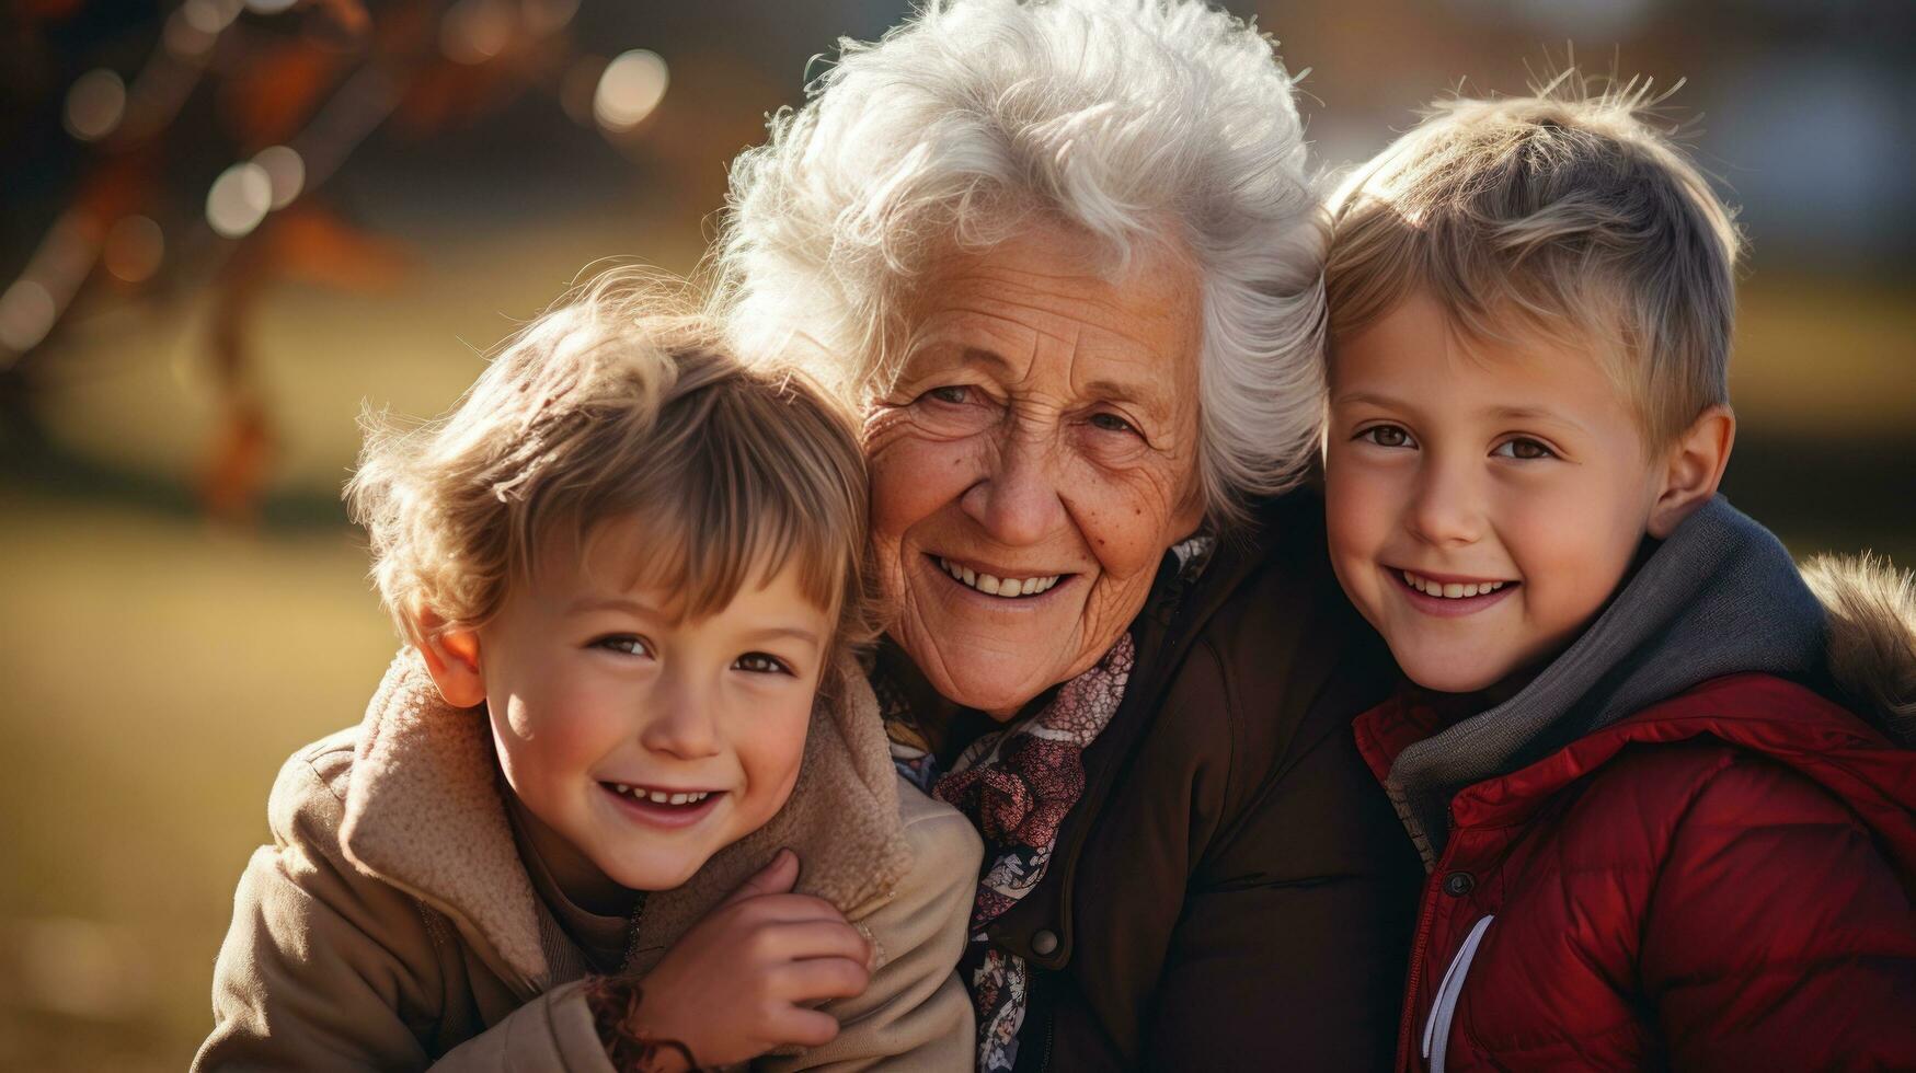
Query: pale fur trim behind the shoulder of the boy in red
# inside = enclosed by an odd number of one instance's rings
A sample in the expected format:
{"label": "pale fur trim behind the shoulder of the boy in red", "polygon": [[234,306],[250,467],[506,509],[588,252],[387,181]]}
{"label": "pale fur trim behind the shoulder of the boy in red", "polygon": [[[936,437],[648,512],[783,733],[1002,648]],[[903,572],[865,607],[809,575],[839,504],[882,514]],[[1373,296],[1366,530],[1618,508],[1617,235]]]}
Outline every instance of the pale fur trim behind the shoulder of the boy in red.
{"label": "pale fur trim behind the shoulder of the boy in red", "polygon": [[1876,556],[1818,556],[1803,581],[1828,615],[1830,678],[1851,709],[1916,749],[1916,575]]}

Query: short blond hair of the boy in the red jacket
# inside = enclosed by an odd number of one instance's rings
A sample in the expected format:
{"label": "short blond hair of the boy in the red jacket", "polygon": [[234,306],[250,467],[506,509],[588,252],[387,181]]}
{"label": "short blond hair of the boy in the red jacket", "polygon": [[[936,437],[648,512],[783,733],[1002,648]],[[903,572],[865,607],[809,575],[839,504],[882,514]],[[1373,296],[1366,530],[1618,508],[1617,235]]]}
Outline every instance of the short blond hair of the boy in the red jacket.
{"label": "short blond hair of the boy in the red jacket", "polygon": [[1590,351],[1661,446],[1728,404],[1734,213],[1652,125],[1648,82],[1565,71],[1533,94],[1437,102],[1345,180],[1332,351],[1422,289],[1470,339]]}

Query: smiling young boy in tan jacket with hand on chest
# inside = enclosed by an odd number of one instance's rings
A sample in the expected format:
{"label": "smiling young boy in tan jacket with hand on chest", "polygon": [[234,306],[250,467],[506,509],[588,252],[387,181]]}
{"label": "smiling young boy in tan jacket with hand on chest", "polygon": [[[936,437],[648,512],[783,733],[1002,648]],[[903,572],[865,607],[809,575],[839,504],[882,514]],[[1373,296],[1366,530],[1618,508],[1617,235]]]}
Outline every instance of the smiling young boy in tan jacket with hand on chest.
{"label": "smiling young boy in tan jacket with hand on chest", "polygon": [[408,648],[282,768],[195,1067],[962,1067],[981,845],[853,659],[864,496],[818,391],[617,278],[374,431]]}

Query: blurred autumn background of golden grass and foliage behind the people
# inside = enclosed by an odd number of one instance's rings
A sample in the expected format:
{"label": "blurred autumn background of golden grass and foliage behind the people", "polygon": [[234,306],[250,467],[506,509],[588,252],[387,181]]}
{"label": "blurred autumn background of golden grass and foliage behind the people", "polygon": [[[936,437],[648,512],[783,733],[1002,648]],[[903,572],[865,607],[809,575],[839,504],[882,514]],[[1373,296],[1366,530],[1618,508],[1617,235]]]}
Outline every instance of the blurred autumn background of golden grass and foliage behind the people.
{"label": "blurred autumn background of golden grass and foliage behind the people", "polygon": [[[1569,48],[1688,84],[1753,255],[1728,492],[1916,563],[1916,6],[1228,4],[1326,167]],[[297,745],[395,646],[339,506],[607,257],[690,270],[726,161],[899,0],[0,0],[0,1067],[178,1069]]]}

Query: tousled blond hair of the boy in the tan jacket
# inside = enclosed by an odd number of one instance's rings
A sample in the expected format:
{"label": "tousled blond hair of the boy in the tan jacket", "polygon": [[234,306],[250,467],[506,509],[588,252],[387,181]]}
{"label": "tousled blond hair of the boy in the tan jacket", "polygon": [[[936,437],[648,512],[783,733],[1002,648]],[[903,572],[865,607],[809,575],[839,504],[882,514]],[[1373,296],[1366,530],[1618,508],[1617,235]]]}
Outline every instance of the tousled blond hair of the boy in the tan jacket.
{"label": "tousled blond hair of the boy in the tan jacket", "polygon": [[513,335],[443,418],[368,414],[347,504],[400,634],[425,640],[422,607],[477,628],[548,542],[582,552],[596,525],[636,517],[655,548],[640,581],[682,613],[717,611],[755,567],[768,581],[789,563],[837,617],[841,651],[870,640],[851,416],[715,337],[655,280],[609,272]]}

